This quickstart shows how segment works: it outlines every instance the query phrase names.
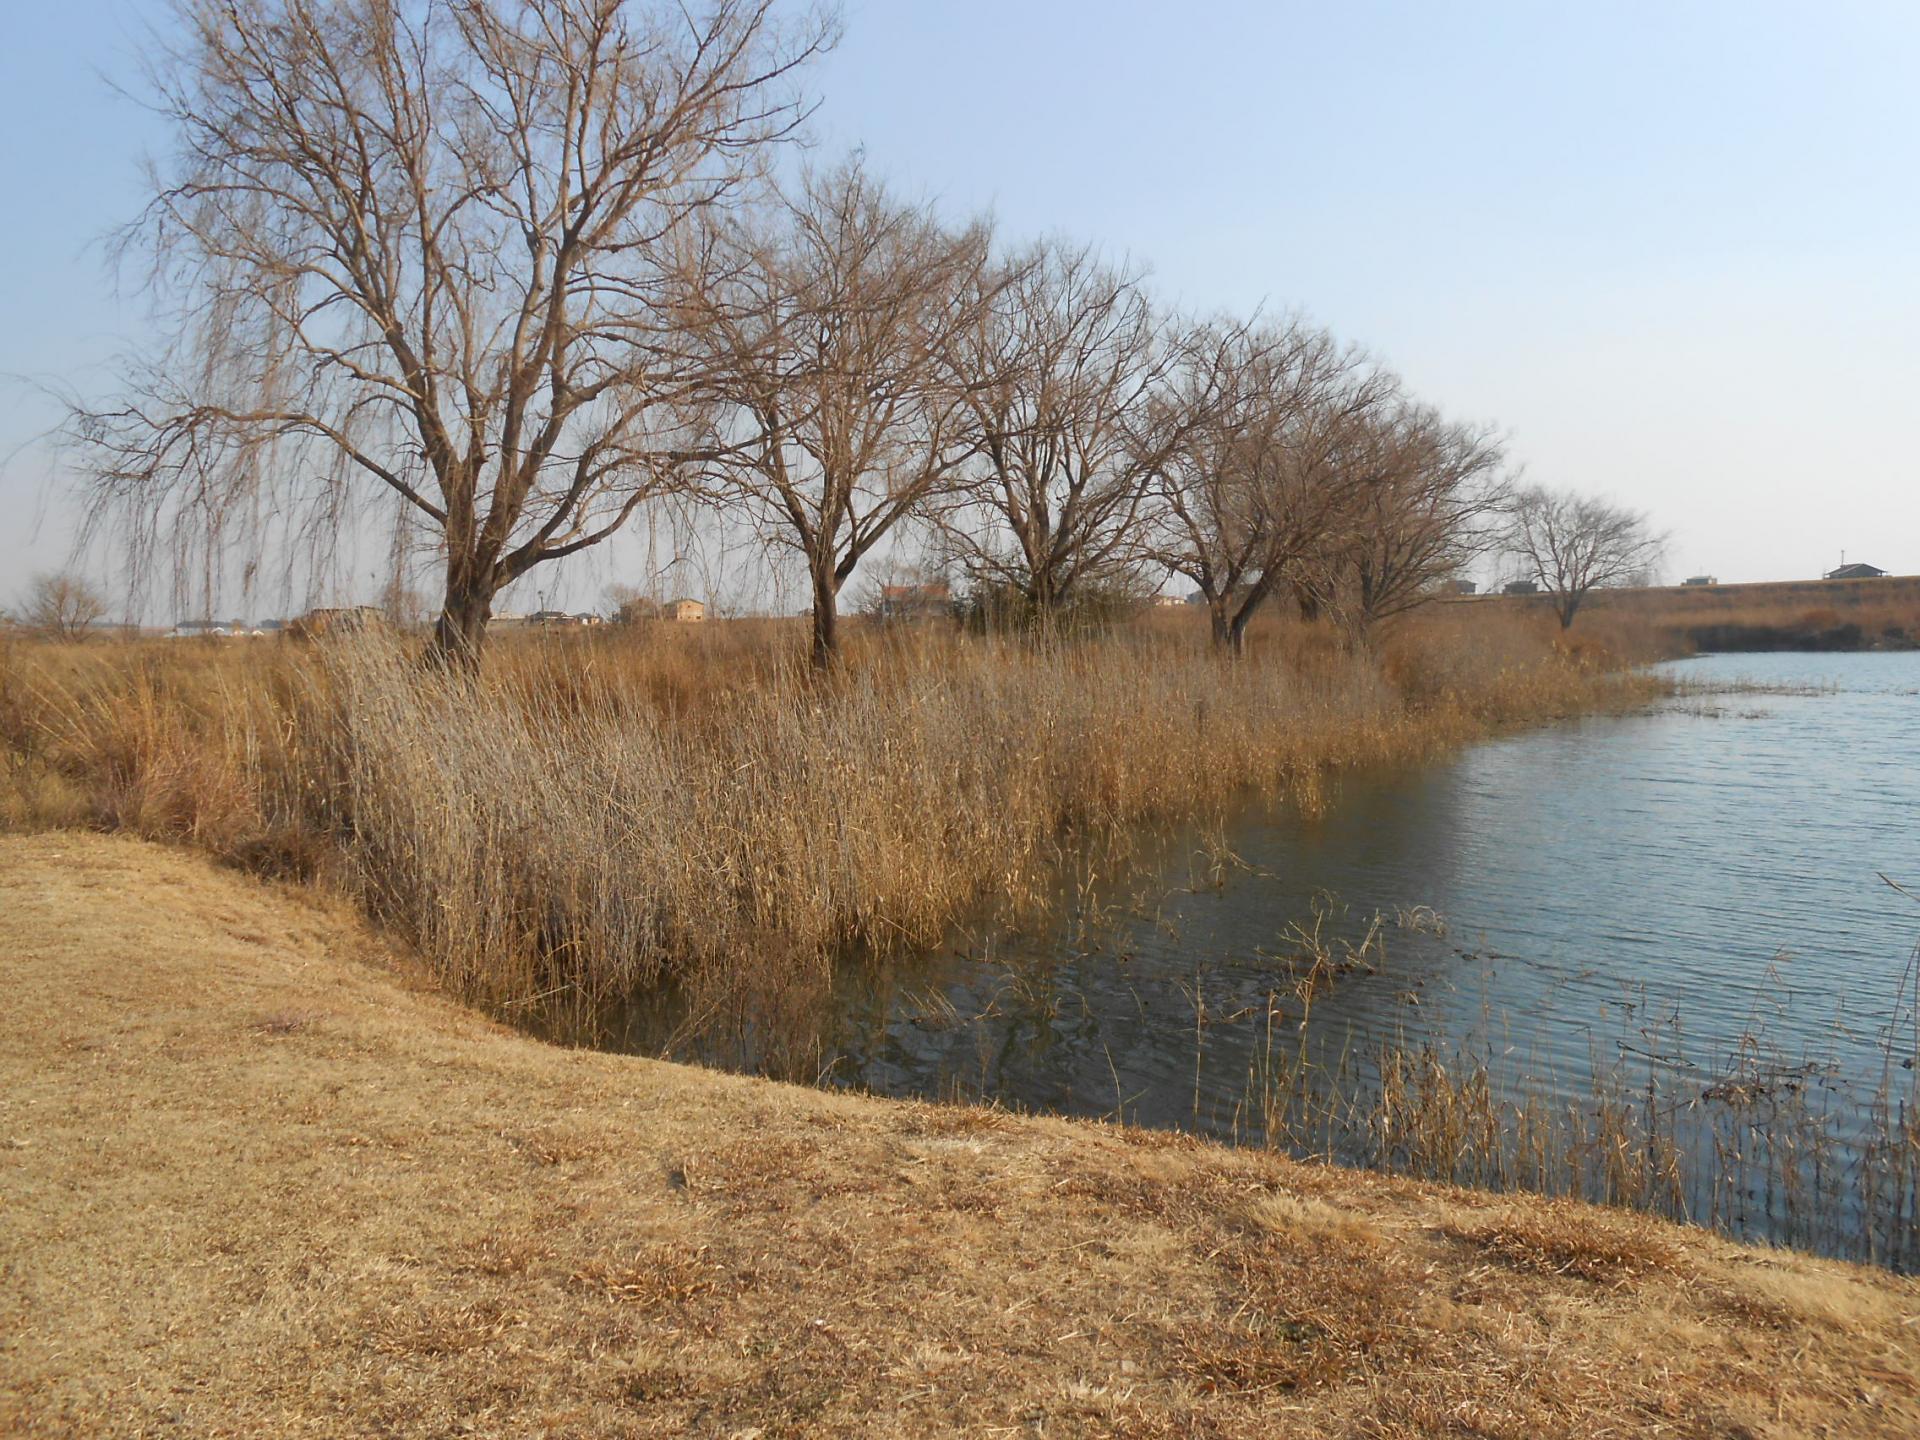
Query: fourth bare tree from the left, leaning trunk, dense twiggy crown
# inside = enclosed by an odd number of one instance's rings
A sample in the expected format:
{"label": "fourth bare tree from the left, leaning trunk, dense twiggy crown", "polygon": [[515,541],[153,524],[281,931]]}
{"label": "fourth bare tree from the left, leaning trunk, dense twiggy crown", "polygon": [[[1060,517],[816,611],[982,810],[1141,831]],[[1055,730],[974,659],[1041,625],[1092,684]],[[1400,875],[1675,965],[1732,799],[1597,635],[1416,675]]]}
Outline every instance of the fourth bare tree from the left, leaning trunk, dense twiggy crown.
{"label": "fourth bare tree from the left, leaning trunk, dense twiggy crown", "polygon": [[1188,346],[1169,401],[1185,440],[1158,468],[1156,557],[1200,591],[1215,645],[1238,655],[1275,589],[1344,545],[1363,478],[1348,453],[1356,422],[1392,394],[1390,376],[1300,323],[1215,326]]}

